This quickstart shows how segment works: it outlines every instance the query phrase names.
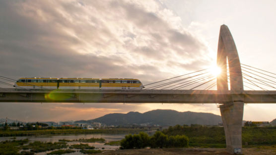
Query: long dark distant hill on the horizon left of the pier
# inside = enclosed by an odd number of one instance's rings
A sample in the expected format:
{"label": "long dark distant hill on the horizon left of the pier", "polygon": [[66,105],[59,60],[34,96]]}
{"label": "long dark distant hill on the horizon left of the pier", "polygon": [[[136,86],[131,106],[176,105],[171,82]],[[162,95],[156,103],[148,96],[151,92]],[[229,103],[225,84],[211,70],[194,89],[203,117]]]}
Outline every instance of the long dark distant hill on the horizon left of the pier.
{"label": "long dark distant hill on the horizon left of the pier", "polygon": [[100,122],[106,125],[161,125],[173,126],[176,124],[217,125],[222,123],[221,117],[211,113],[178,112],[175,110],[152,110],[145,113],[129,112],[127,114],[113,113],[92,120],[75,121],[75,123]]}

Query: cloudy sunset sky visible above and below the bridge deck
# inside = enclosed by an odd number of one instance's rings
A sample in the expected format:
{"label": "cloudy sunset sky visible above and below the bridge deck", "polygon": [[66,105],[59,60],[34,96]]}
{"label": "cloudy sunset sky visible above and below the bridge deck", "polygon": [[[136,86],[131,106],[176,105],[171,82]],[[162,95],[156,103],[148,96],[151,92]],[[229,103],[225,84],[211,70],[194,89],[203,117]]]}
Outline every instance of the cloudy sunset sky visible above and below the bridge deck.
{"label": "cloudy sunset sky visible above and below the bridge deck", "polygon": [[[213,66],[222,24],[242,64],[276,73],[275,8],[275,0],[0,0],[0,75],[146,84]],[[0,118],[58,122],[154,109],[220,115],[216,104],[0,103]],[[244,120],[275,118],[276,104],[244,107]]]}

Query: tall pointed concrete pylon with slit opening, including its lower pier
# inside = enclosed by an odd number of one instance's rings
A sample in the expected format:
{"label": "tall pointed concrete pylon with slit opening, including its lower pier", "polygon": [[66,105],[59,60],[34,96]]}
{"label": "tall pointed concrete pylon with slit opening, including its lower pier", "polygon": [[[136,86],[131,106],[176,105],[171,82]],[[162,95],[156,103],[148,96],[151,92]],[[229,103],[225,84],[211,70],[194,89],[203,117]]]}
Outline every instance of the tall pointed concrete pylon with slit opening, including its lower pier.
{"label": "tall pointed concrete pylon with slit opening, including its lower pier", "polygon": [[[217,92],[228,91],[227,60],[229,66],[230,92],[232,101],[220,103],[226,149],[230,154],[242,153],[242,118],[243,118],[243,81],[240,60],[233,37],[226,25],[220,26],[217,66],[221,75],[217,77]],[[223,96],[222,96],[223,97]]]}

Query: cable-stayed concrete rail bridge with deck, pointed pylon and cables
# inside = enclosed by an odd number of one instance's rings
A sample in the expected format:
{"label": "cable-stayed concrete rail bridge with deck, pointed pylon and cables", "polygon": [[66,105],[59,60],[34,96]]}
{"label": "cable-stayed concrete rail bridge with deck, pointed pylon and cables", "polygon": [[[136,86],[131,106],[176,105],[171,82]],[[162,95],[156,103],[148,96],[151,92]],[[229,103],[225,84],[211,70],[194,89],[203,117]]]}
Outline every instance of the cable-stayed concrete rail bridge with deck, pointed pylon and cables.
{"label": "cable-stayed concrete rail bridge with deck, pointed pylon and cables", "polygon": [[[141,90],[30,90],[0,88],[0,102],[219,103],[225,132],[226,149],[231,154],[241,154],[241,130],[244,103],[276,103],[276,91],[269,91],[256,84],[263,84],[265,86],[272,87],[275,90],[276,78],[274,76],[276,74],[271,73],[273,76],[265,74],[266,76],[274,78],[273,80],[268,78],[262,80],[259,78],[260,76],[258,78],[254,78],[249,75],[251,73],[251,69],[249,69],[248,67],[250,66],[247,65],[243,65],[246,66],[243,68],[247,70],[243,70],[245,73],[242,73],[236,46],[233,37],[226,25],[220,26],[217,50],[217,66],[221,68],[221,75],[216,77],[216,83],[214,82],[212,85],[210,85],[212,87],[216,84],[217,90],[193,90],[198,86],[193,87],[190,90],[177,90],[179,88],[183,88],[185,85],[191,85],[210,77],[205,75],[204,77],[200,78],[194,78],[195,76],[189,77],[194,79],[189,79],[189,83],[186,84],[183,84],[185,82],[182,82],[181,80],[188,78],[182,78],[180,80],[168,82],[168,84],[173,84],[172,86],[175,86],[175,83],[178,81],[181,81],[180,84],[182,84],[170,90],[166,88],[171,86],[162,84],[153,87],[167,87],[162,89],[145,88]],[[227,69],[229,70],[229,73],[227,73]],[[199,74],[197,76],[203,76],[204,74]],[[243,77],[243,75],[247,78]],[[4,77],[1,76],[0,78],[4,79]],[[245,78],[246,81],[243,81],[243,78]],[[249,78],[253,78],[253,80],[250,80]],[[7,80],[10,80],[10,78],[7,78]],[[212,78],[211,80],[215,80],[215,78]],[[230,88],[228,88],[229,82]],[[6,82],[1,83],[8,84]],[[258,86],[263,90],[244,90],[244,86],[248,87],[244,85],[244,83]]]}

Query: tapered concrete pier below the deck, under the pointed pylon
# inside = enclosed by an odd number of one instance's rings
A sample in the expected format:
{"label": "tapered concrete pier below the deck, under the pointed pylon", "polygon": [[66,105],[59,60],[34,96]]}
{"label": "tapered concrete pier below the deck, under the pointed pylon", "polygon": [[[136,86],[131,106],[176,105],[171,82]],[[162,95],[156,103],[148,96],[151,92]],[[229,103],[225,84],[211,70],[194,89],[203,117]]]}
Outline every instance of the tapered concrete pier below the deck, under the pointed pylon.
{"label": "tapered concrete pier below the deck, under the pointed pylon", "polygon": [[230,102],[219,106],[223,121],[226,150],[230,154],[242,154],[243,102]]}

